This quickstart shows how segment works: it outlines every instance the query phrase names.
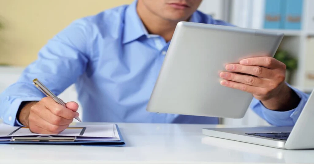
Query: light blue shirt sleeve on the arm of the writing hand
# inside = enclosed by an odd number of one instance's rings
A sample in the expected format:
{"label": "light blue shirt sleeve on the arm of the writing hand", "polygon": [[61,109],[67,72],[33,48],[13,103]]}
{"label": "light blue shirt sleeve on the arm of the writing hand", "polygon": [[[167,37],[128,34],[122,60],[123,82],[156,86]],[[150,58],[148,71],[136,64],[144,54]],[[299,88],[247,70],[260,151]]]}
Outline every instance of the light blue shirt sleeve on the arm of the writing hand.
{"label": "light blue shirt sleeve on the arm of the writing hand", "polygon": [[38,78],[56,95],[62,93],[82,75],[88,62],[88,21],[78,19],[59,32],[38,53],[38,59],[27,66],[18,81],[0,95],[3,122],[21,126],[16,114],[24,101],[45,97],[32,80]]}

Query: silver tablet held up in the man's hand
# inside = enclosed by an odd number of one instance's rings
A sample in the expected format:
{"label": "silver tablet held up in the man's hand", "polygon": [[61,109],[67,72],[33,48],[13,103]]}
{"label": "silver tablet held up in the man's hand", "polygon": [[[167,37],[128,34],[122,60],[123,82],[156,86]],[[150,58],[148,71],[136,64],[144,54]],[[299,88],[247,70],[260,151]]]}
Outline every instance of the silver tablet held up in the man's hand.
{"label": "silver tablet held up in the man's hand", "polygon": [[242,118],[252,94],[220,85],[227,63],[269,54],[284,34],[267,30],[179,22],[146,110]]}

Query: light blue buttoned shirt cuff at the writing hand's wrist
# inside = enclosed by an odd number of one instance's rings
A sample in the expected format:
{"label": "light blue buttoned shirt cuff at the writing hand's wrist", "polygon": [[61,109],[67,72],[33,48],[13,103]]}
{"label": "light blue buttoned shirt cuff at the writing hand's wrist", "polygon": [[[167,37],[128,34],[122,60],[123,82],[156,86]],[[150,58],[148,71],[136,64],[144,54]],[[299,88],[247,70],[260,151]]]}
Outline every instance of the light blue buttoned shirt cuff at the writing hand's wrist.
{"label": "light blue buttoned shirt cuff at the writing hand's wrist", "polygon": [[19,106],[23,101],[40,101],[42,97],[25,97],[16,98],[10,104],[9,109],[2,116],[3,122],[12,126],[24,126],[16,119],[16,114],[19,110]]}

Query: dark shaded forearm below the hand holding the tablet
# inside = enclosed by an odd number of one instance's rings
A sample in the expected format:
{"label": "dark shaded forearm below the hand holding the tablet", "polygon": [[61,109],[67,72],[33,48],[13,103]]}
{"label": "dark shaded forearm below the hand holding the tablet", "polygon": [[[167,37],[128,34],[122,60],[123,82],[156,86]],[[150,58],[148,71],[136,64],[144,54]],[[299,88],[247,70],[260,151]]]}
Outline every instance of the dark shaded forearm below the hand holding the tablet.
{"label": "dark shaded forearm below the hand holding the tablet", "polygon": [[300,97],[287,85],[284,85],[281,93],[272,99],[262,101],[263,105],[275,111],[288,111],[296,108],[300,103]]}

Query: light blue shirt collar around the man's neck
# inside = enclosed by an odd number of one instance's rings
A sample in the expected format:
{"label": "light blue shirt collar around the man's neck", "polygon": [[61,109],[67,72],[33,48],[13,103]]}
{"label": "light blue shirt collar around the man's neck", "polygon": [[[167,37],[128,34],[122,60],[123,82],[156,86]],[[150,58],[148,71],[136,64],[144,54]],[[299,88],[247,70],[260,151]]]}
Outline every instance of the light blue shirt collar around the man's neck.
{"label": "light blue shirt collar around the man's neck", "polygon": [[[145,28],[142,20],[139,18],[136,11],[138,0],[133,1],[126,11],[124,19],[124,34],[122,43],[128,43],[130,41],[136,40],[139,37],[146,35],[149,37],[159,36],[154,34],[149,34]],[[198,12],[194,12],[189,20],[189,22],[200,22],[200,15]]]}

